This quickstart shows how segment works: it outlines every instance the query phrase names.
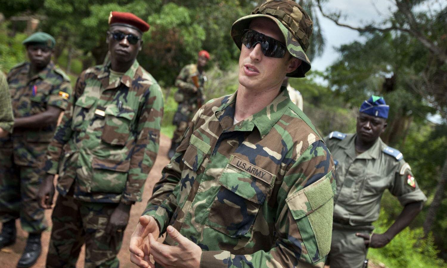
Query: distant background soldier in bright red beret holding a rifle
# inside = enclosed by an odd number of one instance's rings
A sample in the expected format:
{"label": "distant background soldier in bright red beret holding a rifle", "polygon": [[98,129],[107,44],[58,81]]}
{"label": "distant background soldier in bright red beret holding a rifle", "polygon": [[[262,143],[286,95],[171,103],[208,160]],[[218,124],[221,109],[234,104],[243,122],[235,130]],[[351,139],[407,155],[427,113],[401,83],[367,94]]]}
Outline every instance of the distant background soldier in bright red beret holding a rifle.
{"label": "distant background soldier in bright red beret holding a rifle", "polygon": [[204,102],[203,84],[207,81],[207,76],[203,69],[209,60],[210,54],[208,51],[200,50],[197,64],[188,64],[183,67],[175,80],[175,86],[178,90],[174,99],[178,102],[178,108],[172,123],[177,126],[177,129],[174,131],[171,148],[168,152],[169,158],[172,158],[175,154],[186,127]]}

